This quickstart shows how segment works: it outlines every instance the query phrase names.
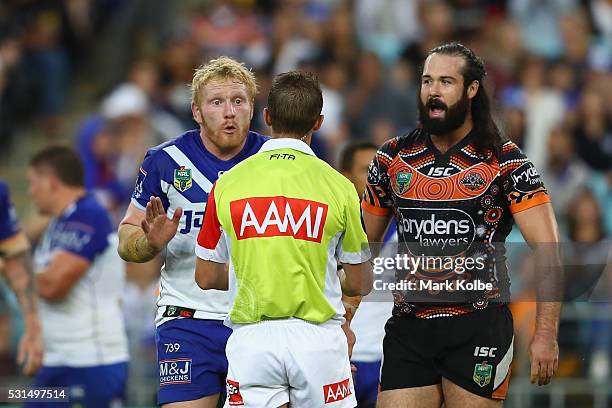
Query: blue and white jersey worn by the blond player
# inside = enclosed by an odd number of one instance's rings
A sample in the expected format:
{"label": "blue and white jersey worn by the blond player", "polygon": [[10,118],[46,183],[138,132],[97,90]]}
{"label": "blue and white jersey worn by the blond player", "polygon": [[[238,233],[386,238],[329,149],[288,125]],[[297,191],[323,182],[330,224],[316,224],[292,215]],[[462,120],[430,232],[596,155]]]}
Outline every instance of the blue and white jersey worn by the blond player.
{"label": "blue and white jersey worn by the blond player", "polygon": [[202,227],[208,193],[221,174],[257,153],[267,140],[249,132],[243,149],[230,160],[221,160],[204,147],[199,130],[150,149],[138,173],[132,203],[145,210],[151,196],[159,197],[169,217],[181,207],[183,216],[176,235],[166,248],[157,301],[156,326],[166,306],[195,310],[196,319],[223,320],[229,311],[227,292],[202,291],[195,284],[195,243]]}

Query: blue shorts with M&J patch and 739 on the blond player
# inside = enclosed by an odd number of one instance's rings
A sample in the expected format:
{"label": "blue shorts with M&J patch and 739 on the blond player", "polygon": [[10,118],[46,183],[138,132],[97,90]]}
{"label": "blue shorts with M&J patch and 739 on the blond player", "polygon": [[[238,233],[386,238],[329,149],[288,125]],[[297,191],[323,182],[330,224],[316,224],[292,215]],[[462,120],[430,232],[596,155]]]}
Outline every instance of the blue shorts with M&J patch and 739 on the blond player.
{"label": "blue shorts with M&J patch and 739 on the blond player", "polygon": [[232,330],[222,320],[173,319],[157,327],[157,403],[192,401],[225,391],[225,345]]}

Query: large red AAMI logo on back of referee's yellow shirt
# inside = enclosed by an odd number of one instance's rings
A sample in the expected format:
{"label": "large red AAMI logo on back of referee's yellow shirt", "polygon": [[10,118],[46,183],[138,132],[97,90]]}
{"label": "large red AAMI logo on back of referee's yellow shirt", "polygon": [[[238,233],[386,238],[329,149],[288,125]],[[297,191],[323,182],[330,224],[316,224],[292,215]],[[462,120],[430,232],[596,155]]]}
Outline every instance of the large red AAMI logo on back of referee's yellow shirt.
{"label": "large red AAMI logo on back of referee's yellow shirt", "polygon": [[275,197],[251,197],[230,203],[237,239],[290,236],[321,242],[327,204]]}

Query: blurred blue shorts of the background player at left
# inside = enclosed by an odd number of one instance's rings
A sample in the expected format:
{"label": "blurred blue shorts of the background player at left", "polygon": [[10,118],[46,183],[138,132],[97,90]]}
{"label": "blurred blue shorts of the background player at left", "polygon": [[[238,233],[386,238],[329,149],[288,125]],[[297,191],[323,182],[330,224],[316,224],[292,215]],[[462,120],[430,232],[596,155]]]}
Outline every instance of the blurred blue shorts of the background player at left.
{"label": "blurred blue shorts of the background player at left", "polygon": [[32,387],[67,387],[70,402],[26,403],[28,408],[70,407],[75,403],[85,407],[109,407],[125,400],[127,363],[92,367],[41,367]]}

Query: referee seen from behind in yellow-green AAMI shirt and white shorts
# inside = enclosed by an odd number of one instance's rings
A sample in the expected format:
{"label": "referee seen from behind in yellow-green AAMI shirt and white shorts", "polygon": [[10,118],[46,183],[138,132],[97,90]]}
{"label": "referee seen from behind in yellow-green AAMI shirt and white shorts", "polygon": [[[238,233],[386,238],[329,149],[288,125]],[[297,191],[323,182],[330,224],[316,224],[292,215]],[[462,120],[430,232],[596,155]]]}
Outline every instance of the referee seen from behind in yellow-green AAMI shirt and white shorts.
{"label": "referee seen from behind in yellow-green AAMI shirt and white shorts", "polygon": [[272,139],[208,197],[196,281],[230,292],[226,406],[356,405],[342,295],[370,292],[370,252],[355,187],[309,146],[322,106],[316,78],[278,75]]}

